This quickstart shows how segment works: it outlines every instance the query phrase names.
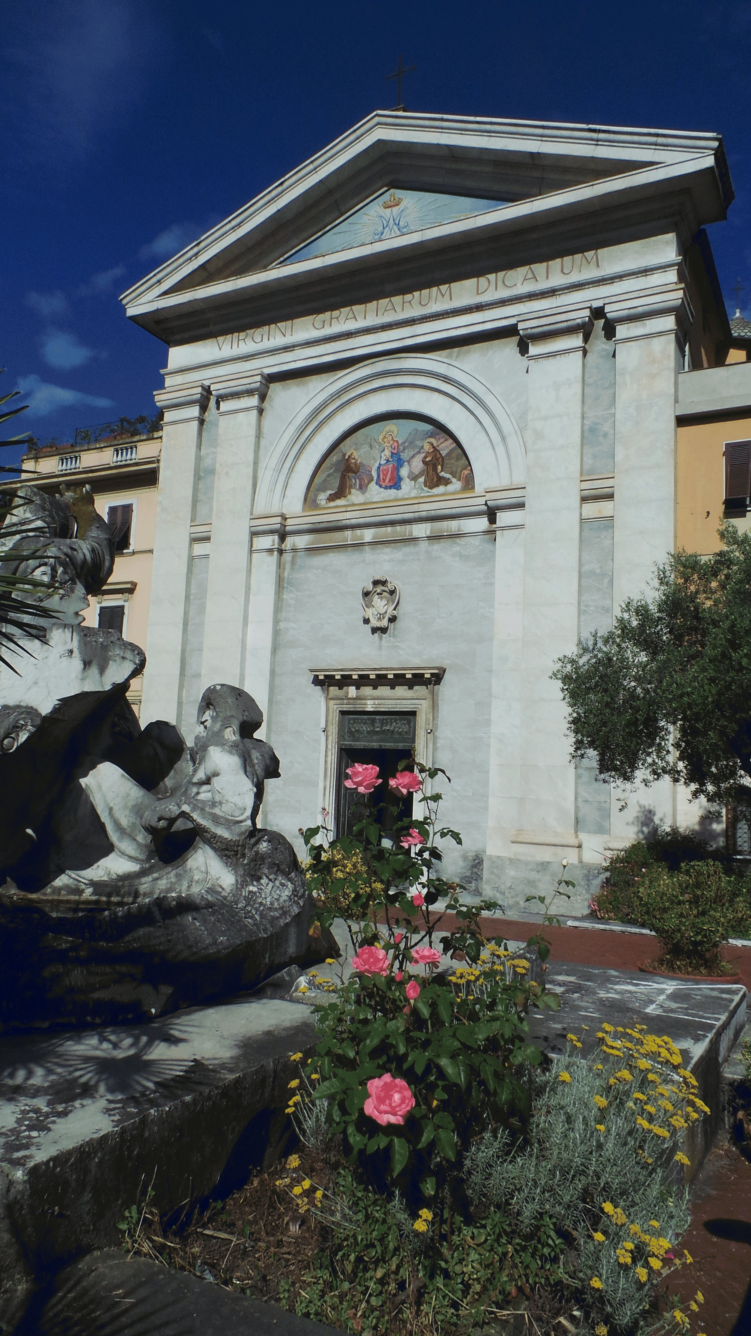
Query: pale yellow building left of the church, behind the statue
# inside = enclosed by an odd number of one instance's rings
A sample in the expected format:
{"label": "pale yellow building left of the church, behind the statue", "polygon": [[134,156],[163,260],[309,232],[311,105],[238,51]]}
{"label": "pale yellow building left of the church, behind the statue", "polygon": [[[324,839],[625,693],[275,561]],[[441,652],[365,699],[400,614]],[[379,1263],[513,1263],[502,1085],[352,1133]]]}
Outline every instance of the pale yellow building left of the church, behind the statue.
{"label": "pale yellow building left of the church, behind the statue", "polygon": [[[110,627],[146,645],[162,429],[147,436],[112,432],[86,440],[98,434],[79,432],[75,445],[32,448],[21,461],[21,481],[45,492],[56,492],[60,484],[91,486],[96,509],[114,526],[116,554],[112,578],[91,599],[84,623]],[[136,713],[142,692],[143,677],[135,677],[128,700]]]}

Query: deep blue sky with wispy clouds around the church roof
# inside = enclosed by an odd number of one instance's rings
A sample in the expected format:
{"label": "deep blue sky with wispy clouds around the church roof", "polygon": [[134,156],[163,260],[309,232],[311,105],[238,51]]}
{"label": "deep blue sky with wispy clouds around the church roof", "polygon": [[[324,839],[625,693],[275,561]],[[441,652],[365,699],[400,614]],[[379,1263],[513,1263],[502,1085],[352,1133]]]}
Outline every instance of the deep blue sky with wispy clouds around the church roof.
{"label": "deep blue sky with wispy clouds around the church roof", "polygon": [[751,310],[751,0],[17,0],[3,43],[0,389],[41,441],[154,410],[166,349],[118,294],[393,106],[400,52],[412,111],[720,131]]}

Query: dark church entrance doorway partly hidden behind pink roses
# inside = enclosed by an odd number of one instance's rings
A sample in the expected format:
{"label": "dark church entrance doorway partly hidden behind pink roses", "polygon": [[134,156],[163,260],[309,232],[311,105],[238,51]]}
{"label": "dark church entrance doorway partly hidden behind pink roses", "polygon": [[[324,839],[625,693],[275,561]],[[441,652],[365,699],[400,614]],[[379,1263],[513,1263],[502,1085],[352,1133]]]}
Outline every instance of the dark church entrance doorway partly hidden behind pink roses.
{"label": "dark church entrance doorway partly hidden behind pink roses", "polygon": [[[416,711],[339,713],[337,835],[351,835],[357,822],[370,816],[381,827],[382,836],[389,840],[394,824],[412,818],[412,794],[398,808],[392,806],[384,808],[381,804],[389,790],[389,779],[397,774],[400,762],[414,756],[416,735]],[[373,794],[358,794],[357,790],[345,787],[347,768],[355,764],[378,767],[381,784]]]}

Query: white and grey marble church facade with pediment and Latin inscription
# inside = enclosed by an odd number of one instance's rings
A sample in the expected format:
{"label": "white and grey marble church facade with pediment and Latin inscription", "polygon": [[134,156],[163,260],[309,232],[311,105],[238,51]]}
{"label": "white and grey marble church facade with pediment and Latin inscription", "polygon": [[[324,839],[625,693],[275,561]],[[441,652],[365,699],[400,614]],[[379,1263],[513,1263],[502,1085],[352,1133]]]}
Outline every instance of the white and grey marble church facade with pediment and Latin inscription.
{"label": "white and grey marble church facade with pediment and Latin inscription", "polygon": [[573,766],[551,672],[675,546],[679,374],[724,362],[715,135],[376,112],[124,294],[168,346],[142,721],[243,687],[265,822],[442,767],[520,908],[680,795]]}

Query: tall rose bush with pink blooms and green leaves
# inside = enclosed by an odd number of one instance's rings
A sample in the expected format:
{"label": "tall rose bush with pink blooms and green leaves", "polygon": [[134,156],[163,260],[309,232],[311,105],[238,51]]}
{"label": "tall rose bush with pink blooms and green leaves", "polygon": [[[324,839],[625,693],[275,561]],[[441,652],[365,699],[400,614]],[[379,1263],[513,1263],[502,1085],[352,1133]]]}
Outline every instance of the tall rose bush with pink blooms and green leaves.
{"label": "tall rose bush with pink blooms and green leaves", "polygon": [[[351,771],[353,783],[377,786],[377,772],[363,779]],[[482,937],[480,918],[497,912],[497,904],[464,904],[457,883],[440,875],[441,843],[461,844],[458,832],[438,820],[442,795],[430,791],[444,774],[402,770],[400,783],[382,792],[382,803],[397,808],[388,843],[370,814],[354,836],[330,840],[321,827],[305,831],[319,922],[330,926],[331,903],[345,899],[354,947],[351,975],[317,1007],[315,1097],[327,1101],[331,1130],[341,1133],[353,1166],[381,1189],[398,1186],[408,1201],[450,1202],[461,1194],[457,1164],[470,1140],[486,1128],[522,1126],[525,1071],[541,1059],[527,1013],[559,1005],[527,978],[527,959],[512,958],[502,939]],[[410,776],[404,784],[402,775]],[[398,820],[404,791],[418,795],[420,818]],[[357,851],[363,871],[338,876],[333,850]],[[444,954],[469,962],[453,974],[438,969],[442,953],[434,941],[444,915],[432,912],[438,899],[457,925],[440,938]],[[545,954],[541,939],[531,943]],[[409,1110],[400,1106],[398,1121],[376,1117],[384,1106],[374,1092],[396,1089],[392,1082],[413,1101]]]}

